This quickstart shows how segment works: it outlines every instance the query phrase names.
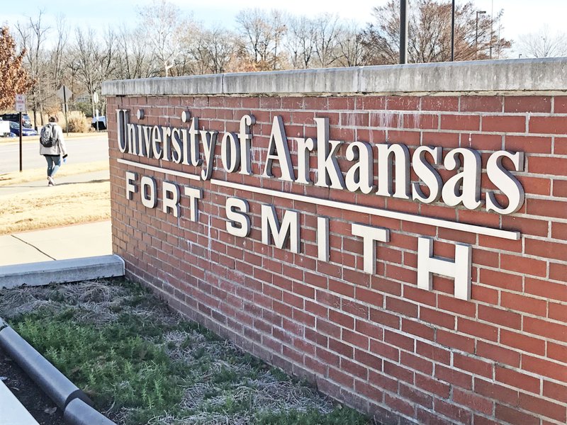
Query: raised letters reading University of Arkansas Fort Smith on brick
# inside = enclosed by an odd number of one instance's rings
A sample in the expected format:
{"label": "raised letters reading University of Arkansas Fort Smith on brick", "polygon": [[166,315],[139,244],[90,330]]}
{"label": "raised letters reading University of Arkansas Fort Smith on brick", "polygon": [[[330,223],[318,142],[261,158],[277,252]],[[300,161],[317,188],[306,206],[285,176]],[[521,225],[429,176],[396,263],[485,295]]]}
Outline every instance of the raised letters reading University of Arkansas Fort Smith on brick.
{"label": "raised letters reading University of Arkansas Fort Smith on brick", "polygon": [[[143,111],[137,111],[139,120],[143,119]],[[254,136],[252,126],[254,117],[244,115],[240,120],[239,132],[224,132],[199,130],[198,118],[184,112],[181,122],[184,126],[168,127],[162,125],[143,125],[130,123],[130,113],[124,109],[116,111],[118,123],[118,149],[120,152],[138,157],[159,160],[156,165],[139,164],[119,159],[130,166],[140,169],[152,169],[164,174],[186,177],[193,181],[210,181],[219,186],[237,188],[240,191],[266,193],[271,196],[286,195],[277,191],[269,191],[252,186],[235,185],[215,179],[214,158],[215,148],[220,144],[220,165],[226,173],[252,175],[252,152]],[[319,186],[346,190],[353,193],[374,193],[376,196],[386,196],[405,200],[415,200],[420,203],[442,201],[449,207],[463,205],[468,210],[484,208],[487,212],[511,214],[522,207],[524,190],[513,174],[523,171],[524,156],[522,152],[507,152],[500,150],[488,157],[486,176],[496,190],[485,191],[485,201],[481,198],[481,154],[475,149],[459,147],[449,150],[444,158],[442,147],[419,146],[410,154],[407,146],[401,143],[374,143],[364,141],[344,142],[330,140],[328,118],[314,118],[316,126],[315,137],[293,137],[296,146],[296,158],[292,158],[288,137],[283,120],[275,116],[271,125],[267,152],[261,159],[262,179],[279,179],[288,183]],[[341,169],[337,153],[346,144],[344,157],[349,163],[348,169]],[[507,169],[503,159],[507,158]],[[292,161],[292,159],[294,159]],[[311,159],[316,166],[311,169]],[[197,167],[198,173],[181,173],[169,170],[167,162],[188,166],[190,171]],[[344,160],[342,161],[344,163]],[[296,167],[293,167],[296,163]],[[160,166],[157,166],[160,164]],[[378,173],[374,175],[374,164]],[[179,170],[179,167],[175,167]],[[182,167],[181,167],[182,168]],[[274,176],[273,169],[278,169]],[[454,171],[443,181],[439,169]],[[417,176],[417,181],[411,181],[411,174]],[[224,174],[224,173],[223,173]],[[313,179],[312,179],[313,176]],[[142,204],[147,208],[157,207],[157,183],[150,176],[138,176],[136,172],[126,172],[125,196],[133,199],[139,193]],[[241,187],[242,186],[242,187]],[[201,188],[179,186],[177,183],[162,181],[162,210],[179,216],[179,202],[183,196],[189,198],[190,219],[198,220],[198,200],[203,199]],[[288,196],[290,197],[290,196]],[[291,196],[296,200],[310,203],[325,203],[348,210],[355,208],[353,204],[339,205],[328,200],[318,200],[306,196]],[[372,214],[372,206],[359,207],[359,210]],[[283,248],[288,244],[289,249],[298,253],[300,244],[300,212],[286,210],[281,220],[276,215],[273,205],[262,205],[262,242],[269,244],[273,241],[276,246]],[[412,216],[399,213],[401,220],[412,220]],[[229,197],[225,205],[226,229],[237,237],[247,237],[250,232],[248,200],[245,198]],[[405,217],[409,216],[409,217]],[[415,217],[415,216],[414,216]],[[432,219],[437,220],[437,219]],[[316,232],[318,258],[329,261],[329,219],[318,217]],[[442,221],[442,220],[437,220]],[[449,222],[451,223],[451,222]],[[427,222],[427,224],[430,224]],[[435,222],[431,224],[436,225]],[[466,225],[464,225],[466,226]],[[447,227],[450,227],[447,225]],[[456,228],[456,227],[451,227]],[[471,230],[466,230],[471,231]],[[376,249],[379,243],[387,243],[389,229],[352,224],[352,234],[361,237],[364,242],[364,271],[375,273]],[[511,232],[510,232],[511,233]],[[517,239],[519,235],[508,238]],[[455,296],[464,300],[470,298],[471,285],[471,246],[456,244],[455,260],[439,259],[432,256],[433,241],[427,237],[418,238],[417,246],[417,280],[418,286],[431,289],[432,273],[455,278]]]}

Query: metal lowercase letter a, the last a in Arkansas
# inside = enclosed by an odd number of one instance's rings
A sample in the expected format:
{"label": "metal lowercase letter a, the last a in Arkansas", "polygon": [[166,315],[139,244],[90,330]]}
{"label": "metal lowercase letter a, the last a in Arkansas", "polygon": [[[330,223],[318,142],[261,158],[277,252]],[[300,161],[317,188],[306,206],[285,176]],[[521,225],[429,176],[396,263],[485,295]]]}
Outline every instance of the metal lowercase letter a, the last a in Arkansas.
{"label": "metal lowercase letter a, the last a in Arkansas", "polygon": [[449,207],[463,203],[468,210],[474,210],[482,205],[481,154],[468,147],[453,149],[445,157],[445,168],[449,171],[459,169],[459,155],[463,157],[463,171],[452,176],[444,184],[443,202]]}

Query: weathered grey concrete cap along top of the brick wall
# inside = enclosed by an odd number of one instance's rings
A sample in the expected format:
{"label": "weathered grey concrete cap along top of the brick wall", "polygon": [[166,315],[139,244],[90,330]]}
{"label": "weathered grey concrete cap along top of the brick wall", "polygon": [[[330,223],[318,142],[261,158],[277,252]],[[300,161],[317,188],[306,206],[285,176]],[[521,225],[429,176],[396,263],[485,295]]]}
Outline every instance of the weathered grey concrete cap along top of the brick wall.
{"label": "weathered grey concrete cap along top of the brick wall", "polygon": [[567,57],[381,65],[105,81],[106,96],[567,91]]}

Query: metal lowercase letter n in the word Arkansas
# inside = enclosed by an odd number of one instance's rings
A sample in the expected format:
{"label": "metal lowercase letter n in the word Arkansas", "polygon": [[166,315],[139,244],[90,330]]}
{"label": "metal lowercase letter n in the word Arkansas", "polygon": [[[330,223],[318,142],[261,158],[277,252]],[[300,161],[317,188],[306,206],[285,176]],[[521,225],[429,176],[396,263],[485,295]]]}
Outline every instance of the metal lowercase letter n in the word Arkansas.
{"label": "metal lowercase letter n in the word Arkansas", "polygon": [[[410,199],[410,151],[405,145],[380,143],[378,148],[378,191],[380,196]],[[394,159],[391,161],[391,157]],[[395,191],[392,167],[395,162]]]}

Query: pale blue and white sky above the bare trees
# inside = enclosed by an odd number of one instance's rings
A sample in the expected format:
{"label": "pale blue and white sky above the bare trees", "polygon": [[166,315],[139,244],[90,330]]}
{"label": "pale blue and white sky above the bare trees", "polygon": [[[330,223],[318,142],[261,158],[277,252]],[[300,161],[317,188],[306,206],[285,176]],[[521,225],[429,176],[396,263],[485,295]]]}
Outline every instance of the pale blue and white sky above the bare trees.
{"label": "pale blue and white sky above the bare trees", "polygon": [[[235,16],[243,8],[266,8],[265,0],[169,0],[193,18],[203,22],[206,27],[215,25],[235,29]],[[448,0],[447,0],[448,1]],[[544,24],[551,33],[565,32],[567,0],[472,0],[479,11],[494,15],[503,9],[503,30],[501,35],[517,39],[526,33],[536,33]],[[316,16],[320,13],[337,13],[342,18],[365,26],[372,20],[374,6],[386,4],[387,0],[286,0],[276,4],[276,8],[297,15]],[[463,4],[464,0],[456,0]],[[3,2],[0,10],[0,23],[9,25],[37,16],[40,10],[47,21],[55,27],[55,16],[64,14],[71,26],[91,27],[96,30],[107,26],[133,26],[138,7],[150,5],[150,0],[26,0]]]}

